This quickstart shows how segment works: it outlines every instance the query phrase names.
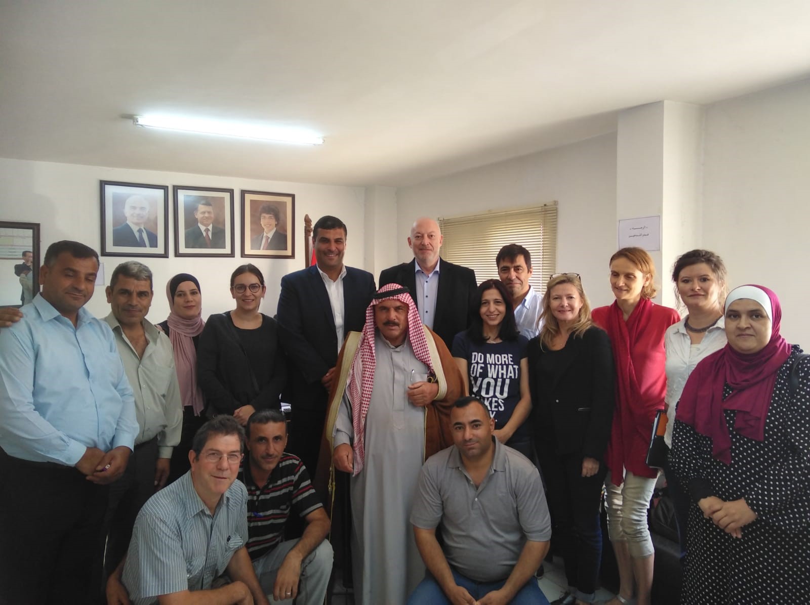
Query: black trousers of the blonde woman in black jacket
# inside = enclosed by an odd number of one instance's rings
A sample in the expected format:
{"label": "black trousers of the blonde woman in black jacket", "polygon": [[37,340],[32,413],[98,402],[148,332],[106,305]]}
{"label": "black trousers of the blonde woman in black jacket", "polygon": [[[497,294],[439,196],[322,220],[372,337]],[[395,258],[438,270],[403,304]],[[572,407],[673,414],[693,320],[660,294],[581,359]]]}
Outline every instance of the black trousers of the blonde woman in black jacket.
{"label": "black trousers of the blonde woman in black jacket", "polygon": [[569,586],[584,594],[596,590],[602,558],[599,506],[608,467],[582,476],[582,455],[544,454],[540,467],[546,480],[546,499],[552,515],[553,541],[560,548]]}

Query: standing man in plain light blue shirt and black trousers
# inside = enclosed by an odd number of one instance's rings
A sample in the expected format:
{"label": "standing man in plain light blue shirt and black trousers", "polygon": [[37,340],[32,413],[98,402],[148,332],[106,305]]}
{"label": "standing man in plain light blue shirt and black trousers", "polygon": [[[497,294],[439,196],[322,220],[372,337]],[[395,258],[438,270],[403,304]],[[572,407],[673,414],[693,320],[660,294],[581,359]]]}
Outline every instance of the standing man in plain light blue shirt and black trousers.
{"label": "standing man in plain light blue shirt and black trousers", "polygon": [[[87,603],[106,485],[138,434],[113,332],[83,309],[98,255],[53,243],[42,291],[0,331],[0,595],[9,603]],[[96,583],[94,583],[96,582]]]}

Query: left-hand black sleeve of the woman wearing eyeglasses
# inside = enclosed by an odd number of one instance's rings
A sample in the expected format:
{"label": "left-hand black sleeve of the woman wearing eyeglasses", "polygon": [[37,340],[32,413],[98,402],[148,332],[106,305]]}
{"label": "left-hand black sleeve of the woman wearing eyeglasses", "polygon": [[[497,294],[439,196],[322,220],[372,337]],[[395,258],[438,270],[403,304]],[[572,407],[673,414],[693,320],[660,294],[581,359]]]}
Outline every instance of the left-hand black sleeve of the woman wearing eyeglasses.
{"label": "left-hand black sleeve of the woman wearing eyeglasses", "polygon": [[[197,383],[203,391],[206,404],[211,406],[214,412],[232,414],[237,408],[241,408],[242,404],[233,398],[219,378],[220,356],[235,353],[225,338],[224,330],[227,328],[225,321],[229,319],[221,313],[211,315],[200,334],[200,344],[197,348]],[[244,359],[241,353],[239,357]]]}

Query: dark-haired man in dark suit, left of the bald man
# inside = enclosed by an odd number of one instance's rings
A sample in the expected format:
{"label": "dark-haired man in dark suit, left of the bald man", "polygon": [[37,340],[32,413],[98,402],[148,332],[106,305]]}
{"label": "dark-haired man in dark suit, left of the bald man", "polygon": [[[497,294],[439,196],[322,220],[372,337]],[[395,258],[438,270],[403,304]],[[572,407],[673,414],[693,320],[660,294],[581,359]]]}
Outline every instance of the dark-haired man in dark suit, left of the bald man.
{"label": "dark-haired man in dark suit, left of the bald man", "polygon": [[339,218],[319,218],[313,226],[317,264],[281,278],[277,317],[289,366],[289,451],[301,458],[310,476],[318,466],[326,397],[343,338],[362,330],[377,291],[371,273],[343,265],[346,235]]}

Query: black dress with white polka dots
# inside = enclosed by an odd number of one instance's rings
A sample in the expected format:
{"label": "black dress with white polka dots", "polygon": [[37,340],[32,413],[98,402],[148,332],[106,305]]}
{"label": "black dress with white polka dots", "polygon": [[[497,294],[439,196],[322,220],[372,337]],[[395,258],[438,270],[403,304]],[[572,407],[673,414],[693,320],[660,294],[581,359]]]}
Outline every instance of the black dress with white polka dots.
{"label": "black dress with white polka dots", "polygon": [[[733,429],[726,410],[731,465],[711,455],[711,439],[676,421],[670,463],[686,479],[708,480],[723,501],[744,497],[757,519],[731,535],[689,510],[681,603],[810,603],[810,359],[799,366],[799,387],[790,396],[793,346],[777,374],[762,442]],[[726,387],[724,398],[731,394]]]}

